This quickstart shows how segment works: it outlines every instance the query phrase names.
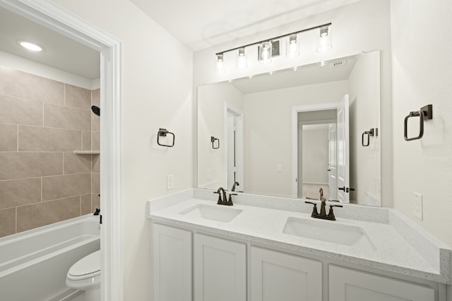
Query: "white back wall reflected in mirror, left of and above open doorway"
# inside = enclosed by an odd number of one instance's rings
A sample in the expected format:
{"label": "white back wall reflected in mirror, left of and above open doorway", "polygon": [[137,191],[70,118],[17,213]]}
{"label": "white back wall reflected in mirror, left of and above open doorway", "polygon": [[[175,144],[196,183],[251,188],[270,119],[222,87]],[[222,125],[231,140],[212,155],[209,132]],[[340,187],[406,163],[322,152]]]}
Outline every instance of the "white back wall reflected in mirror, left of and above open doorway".
{"label": "white back wall reflected in mirror, left of and above open doorway", "polygon": [[292,106],[338,102],[347,90],[341,80],[244,94],[245,191],[291,197]]}

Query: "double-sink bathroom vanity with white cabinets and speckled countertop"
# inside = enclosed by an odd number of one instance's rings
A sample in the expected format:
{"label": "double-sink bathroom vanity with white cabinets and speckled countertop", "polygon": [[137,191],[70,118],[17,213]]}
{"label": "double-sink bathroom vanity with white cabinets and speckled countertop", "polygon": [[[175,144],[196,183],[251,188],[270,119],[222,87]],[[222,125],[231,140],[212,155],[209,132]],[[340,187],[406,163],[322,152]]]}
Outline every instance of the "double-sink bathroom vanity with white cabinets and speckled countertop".
{"label": "double-sink bathroom vanity with white cabinets and speckled countertop", "polygon": [[227,207],[194,189],[147,210],[154,301],[444,301],[452,283],[452,250],[393,209],[345,204],[325,221],[300,199]]}

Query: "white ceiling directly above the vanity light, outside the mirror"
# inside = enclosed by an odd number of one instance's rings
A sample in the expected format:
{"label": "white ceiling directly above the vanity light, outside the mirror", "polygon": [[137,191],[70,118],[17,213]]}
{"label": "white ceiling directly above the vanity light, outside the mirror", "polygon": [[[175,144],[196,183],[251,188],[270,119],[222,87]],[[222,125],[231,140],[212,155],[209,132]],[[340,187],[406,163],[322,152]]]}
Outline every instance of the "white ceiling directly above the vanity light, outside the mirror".
{"label": "white ceiling directly above the vanity light, outside the mirror", "polygon": [[359,0],[131,0],[197,51]]}

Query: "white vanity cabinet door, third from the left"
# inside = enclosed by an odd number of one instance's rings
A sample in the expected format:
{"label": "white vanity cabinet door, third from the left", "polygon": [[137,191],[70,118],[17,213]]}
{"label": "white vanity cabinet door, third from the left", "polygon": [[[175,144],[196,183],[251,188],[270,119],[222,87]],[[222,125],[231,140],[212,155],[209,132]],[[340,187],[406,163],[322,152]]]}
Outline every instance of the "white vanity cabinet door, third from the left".
{"label": "white vanity cabinet door, third from the left", "polygon": [[321,301],[322,264],[251,247],[251,301]]}

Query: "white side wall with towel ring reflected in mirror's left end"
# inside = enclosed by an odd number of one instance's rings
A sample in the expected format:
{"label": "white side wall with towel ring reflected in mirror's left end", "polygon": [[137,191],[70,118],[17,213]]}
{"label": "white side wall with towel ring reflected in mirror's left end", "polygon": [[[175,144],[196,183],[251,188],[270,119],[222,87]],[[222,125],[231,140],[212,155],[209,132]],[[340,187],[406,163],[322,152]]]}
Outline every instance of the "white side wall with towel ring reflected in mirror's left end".
{"label": "white side wall with towel ring reflected in mirror's left end", "polygon": [[[199,188],[227,188],[225,103],[243,111],[243,94],[229,82],[198,87]],[[220,139],[220,149],[212,149],[210,136]],[[207,178],[208,169],[211,179]]]}

